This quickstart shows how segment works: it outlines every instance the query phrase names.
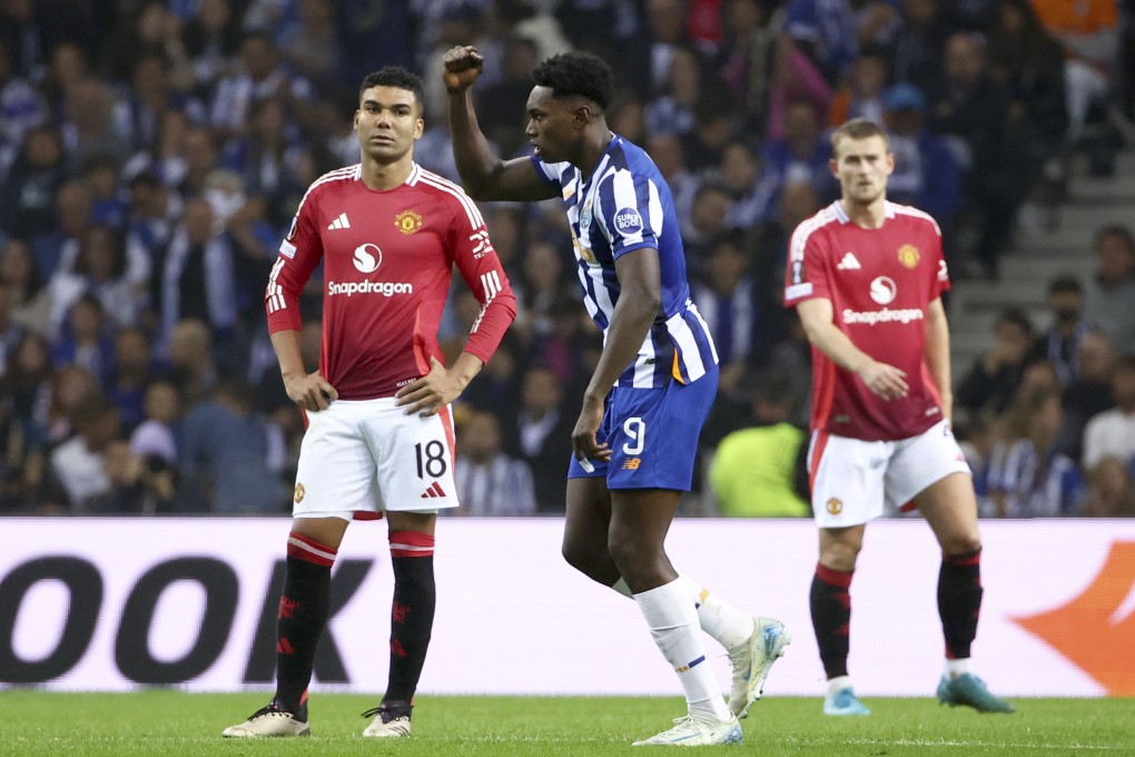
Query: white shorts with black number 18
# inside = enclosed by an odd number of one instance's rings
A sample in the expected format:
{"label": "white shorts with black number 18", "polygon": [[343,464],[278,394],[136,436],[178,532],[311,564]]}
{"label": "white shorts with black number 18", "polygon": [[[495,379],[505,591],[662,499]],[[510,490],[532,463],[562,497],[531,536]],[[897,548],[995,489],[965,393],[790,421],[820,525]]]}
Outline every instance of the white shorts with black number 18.
{"label": "white shorts with black number 18", "polygon": [[336,399],[308,413],[293,516],[365,520],[457,506],[449,407],[422,418],[394,402]]}

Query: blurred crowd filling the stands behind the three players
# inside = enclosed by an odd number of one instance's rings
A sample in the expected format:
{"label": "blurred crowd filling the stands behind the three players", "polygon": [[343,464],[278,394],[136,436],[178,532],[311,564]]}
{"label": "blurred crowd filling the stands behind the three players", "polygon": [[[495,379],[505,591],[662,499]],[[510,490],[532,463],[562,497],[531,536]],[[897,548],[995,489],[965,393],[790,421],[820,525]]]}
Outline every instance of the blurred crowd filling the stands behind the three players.
{"label": "blurred crowd filling the stands behind the three players", "polygon": [[[471,43],[502,154],[526,150],[538,60],[613,64],[608,121],[673,190],[722,364],[686,512],[806,515],[807,339],[781,301],[789,235],[838,193],[827,131],[885,124],[890,199],[934,216],[957,286],[997,278],[1023,203],[1059,200],[1073,157],[1115,170],[1132,15],[1119,0],[0,0],[0,514],[288,512],[304,426],[264,321],[279,241],[306,187],[358,162],[346,125],[382,65],[423,75],[415,155],[457,180],[440,58]],[[456,409],[457,514],[560,513],[598,334],[558,203],[482,210],[519,314]],[[1084,244],[1098,268],[1051,283],[1051,327],[1007,310],[959,367],[985,516],[1135,515],[1135,241],[1117,225]],[[313,280],[311,367],[320,297]],[[446,312],[452,360],[478,303],[455,287]],[[788,464],[753,462],[784,449]]]}

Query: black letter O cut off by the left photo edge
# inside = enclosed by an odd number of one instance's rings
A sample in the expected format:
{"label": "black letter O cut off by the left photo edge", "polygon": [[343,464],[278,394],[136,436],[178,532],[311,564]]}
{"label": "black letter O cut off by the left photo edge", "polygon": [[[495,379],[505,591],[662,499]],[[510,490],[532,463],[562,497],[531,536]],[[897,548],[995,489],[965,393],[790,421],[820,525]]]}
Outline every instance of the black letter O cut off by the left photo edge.
{"label": "black letter O cut off by the left photo edge", "polygon": [[[59,644],[43,659],[16,656],[16,619],[27,591],[40,581],[59,581],[67,588],[68,606]],[[59,678],[82,659],[94,636],[102,605],[102,575],[99,569],[77,557],[41,557],[12,570],[0,582],[0,681],[5,683],[44,683]],[[54,628],[36,628],[37,636]]]}

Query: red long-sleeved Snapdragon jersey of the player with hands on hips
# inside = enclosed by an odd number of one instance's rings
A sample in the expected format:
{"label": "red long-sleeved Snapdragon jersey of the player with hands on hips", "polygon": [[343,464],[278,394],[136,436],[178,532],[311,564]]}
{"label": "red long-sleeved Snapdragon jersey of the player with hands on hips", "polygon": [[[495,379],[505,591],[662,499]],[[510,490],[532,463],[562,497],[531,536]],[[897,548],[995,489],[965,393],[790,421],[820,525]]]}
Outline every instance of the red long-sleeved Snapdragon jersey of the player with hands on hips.
{"label": "red long-sleeved Snapdragon jersey of the player with hands on hips", "polygon": [[456,264],[481,303],[465,351],[484,362],[516,300],[473,201],[413,166],[378,192],[361,166],[322,176],[300,202],[264,294],[268,330],[300,329],[299,296],[323,261],[320,370],[343,399],[392,396],[442,360],[437,329]]}

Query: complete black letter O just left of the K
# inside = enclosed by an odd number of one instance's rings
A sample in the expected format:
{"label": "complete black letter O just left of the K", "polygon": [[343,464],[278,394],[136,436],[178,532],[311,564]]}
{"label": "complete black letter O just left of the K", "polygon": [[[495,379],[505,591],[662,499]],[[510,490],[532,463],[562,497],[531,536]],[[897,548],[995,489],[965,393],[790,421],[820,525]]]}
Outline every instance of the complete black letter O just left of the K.
{"label": "complete black letter O just left of the K", "polygon": [[[162,662],[150,653],[150,625],[158,599],[177,581],[199,583],[205,592],[201,626],[185,628],[193,647],[180,659]],[[151,567],[131,591],[115,639],[115,662],[138,683],[179,683],[204,673],[225,650],[236,615],[238,582],[232,567],[210,557],[185,557]],[[196,619],[185,619],[193,621]]]}

